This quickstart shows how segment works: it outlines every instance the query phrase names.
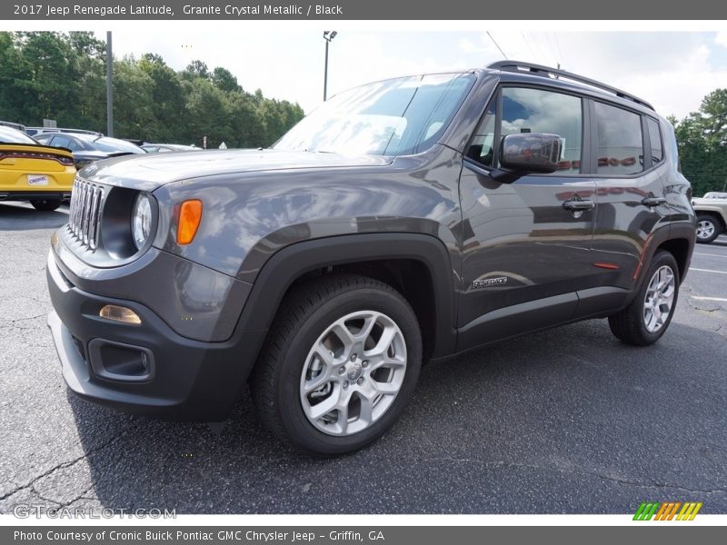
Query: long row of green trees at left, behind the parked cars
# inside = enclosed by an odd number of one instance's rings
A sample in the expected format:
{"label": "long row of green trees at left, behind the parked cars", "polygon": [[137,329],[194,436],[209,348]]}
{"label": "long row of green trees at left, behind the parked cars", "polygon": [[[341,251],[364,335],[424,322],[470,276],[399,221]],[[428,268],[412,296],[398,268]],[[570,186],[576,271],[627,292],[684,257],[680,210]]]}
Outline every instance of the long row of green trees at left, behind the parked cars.
{"label": "long row of green trees at left, behind the parked cars", "polygon": [[[0,32],[0,119],[105,132],[105,43],[93,33]],[[114,135],[227,147],[273,144],[303,118],[298,104],[246,93],[229,70],[158,54],[114,61]]]}

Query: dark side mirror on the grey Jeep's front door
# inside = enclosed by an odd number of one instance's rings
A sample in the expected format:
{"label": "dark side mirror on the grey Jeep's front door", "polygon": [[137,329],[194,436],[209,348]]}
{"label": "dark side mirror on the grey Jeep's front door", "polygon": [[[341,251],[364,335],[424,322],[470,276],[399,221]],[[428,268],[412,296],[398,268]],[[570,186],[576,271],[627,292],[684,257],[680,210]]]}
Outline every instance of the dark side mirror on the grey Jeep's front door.
{"label": "dark side mirror on the grey Jeep's front door", "polygon": [[508,134],[500,145],[500,168],[509,174],[554,173],[561,160],[557,134]]}

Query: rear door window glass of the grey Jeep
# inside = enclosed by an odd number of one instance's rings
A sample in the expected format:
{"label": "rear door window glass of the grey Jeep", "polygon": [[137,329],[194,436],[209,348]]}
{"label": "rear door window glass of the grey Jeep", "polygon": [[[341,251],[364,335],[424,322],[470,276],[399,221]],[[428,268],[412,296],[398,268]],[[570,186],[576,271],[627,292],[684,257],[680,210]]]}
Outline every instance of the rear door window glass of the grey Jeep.
{"label": "rear door window glass of the grey Jeep", "polygon": [[[643,171],[642,118],[608,104],[595,103],[599,174],[624,176]],[[661,141],[660,141],[661,142]]]}

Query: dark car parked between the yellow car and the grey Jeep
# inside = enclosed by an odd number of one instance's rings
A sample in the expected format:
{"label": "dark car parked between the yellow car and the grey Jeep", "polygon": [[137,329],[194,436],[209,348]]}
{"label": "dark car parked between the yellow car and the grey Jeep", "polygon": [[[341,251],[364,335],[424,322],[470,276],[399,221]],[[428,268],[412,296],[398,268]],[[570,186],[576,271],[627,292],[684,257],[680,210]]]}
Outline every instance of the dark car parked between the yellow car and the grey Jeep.
{"label": "dark car parked between the yellow car and the grey Jeep", "polygon": [[132,144],[125,140],[119,140],[118,138],[110,138],[100,133],[48,132],[37,133],[34,138],[41,144],[71,150],[74,154],[75,167],[78,170],[81,170],[87,164],[94,163],[100,159],[145,153],[144,150],[136,144]]}

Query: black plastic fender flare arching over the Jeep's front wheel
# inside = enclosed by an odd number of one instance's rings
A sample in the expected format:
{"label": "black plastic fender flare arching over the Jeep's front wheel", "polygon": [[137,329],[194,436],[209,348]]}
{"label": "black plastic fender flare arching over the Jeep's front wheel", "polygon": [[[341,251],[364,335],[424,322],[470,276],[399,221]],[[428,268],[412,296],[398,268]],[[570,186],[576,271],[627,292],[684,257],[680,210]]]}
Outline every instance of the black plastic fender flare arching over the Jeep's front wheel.
{"label": "black plastic fender flare arching over the Jeep's front wheel", "polygon": [[444,243],[428,234],[361,233],[294,243],[274,253],[264,263],[237,327],[243,338],[258,345],[245,347],[248,357],[254,355],[257,359],[284,293],[305,272],[346,263],[401,259],[423,263],[431,274],[436,316],[432,357],[453,353],[456,345],[455,272]]}

